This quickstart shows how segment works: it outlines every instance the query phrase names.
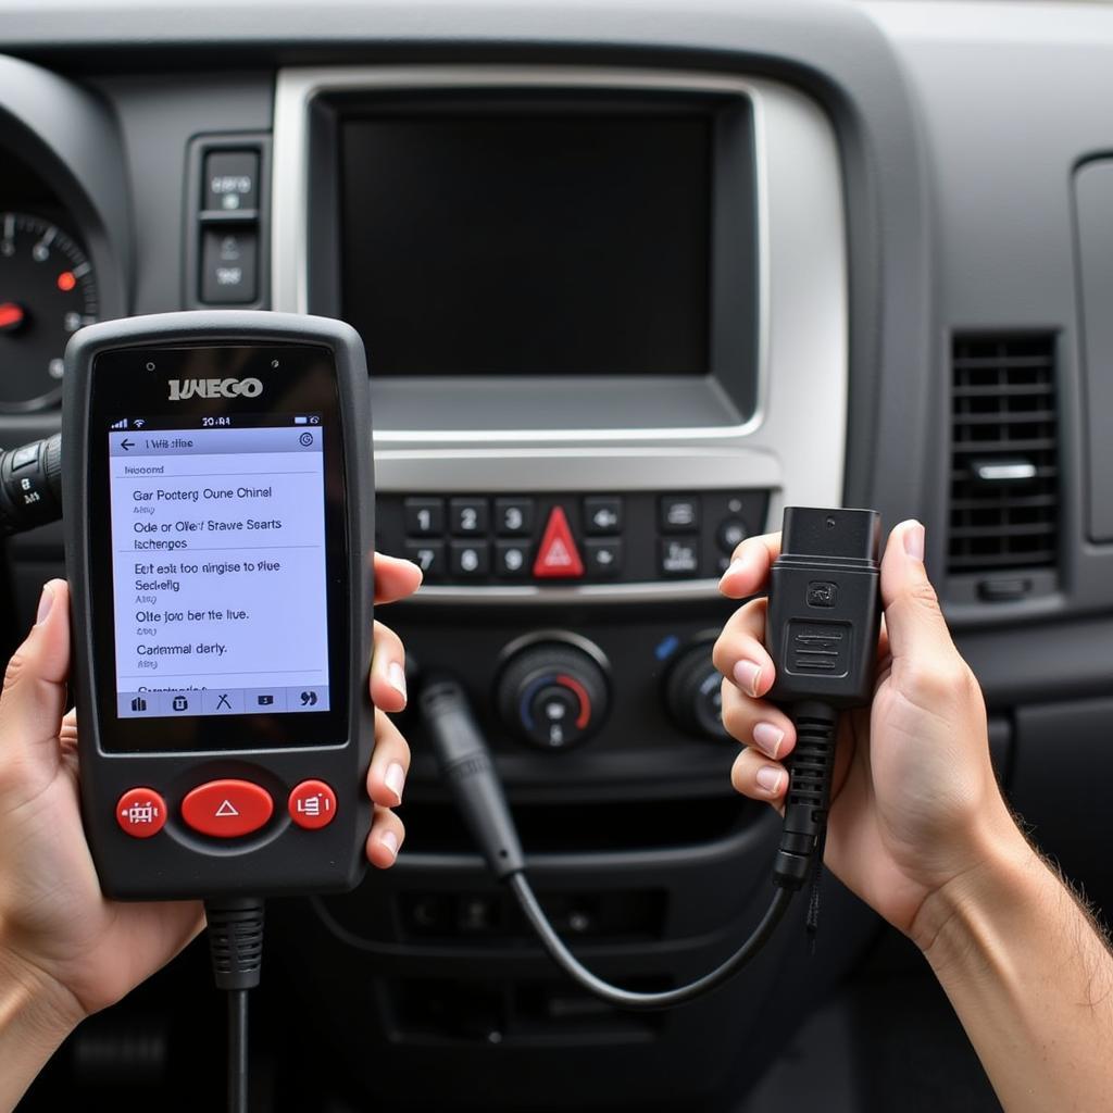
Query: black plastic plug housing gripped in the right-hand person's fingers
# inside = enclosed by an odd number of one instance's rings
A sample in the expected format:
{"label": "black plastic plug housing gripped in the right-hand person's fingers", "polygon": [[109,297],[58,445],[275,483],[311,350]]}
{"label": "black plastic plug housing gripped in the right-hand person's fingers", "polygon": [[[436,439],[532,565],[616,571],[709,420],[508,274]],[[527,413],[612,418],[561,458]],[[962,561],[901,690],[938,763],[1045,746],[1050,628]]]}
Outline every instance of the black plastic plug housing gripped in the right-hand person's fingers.
{"label": "black plastic plug housing gripped in the right-hand person's fingers", "polygon": [[873,510],[785,510],[766,619],[766,646],[777,667],[768,697],[774,702],[843,709],[873,698],[880,530]]}

